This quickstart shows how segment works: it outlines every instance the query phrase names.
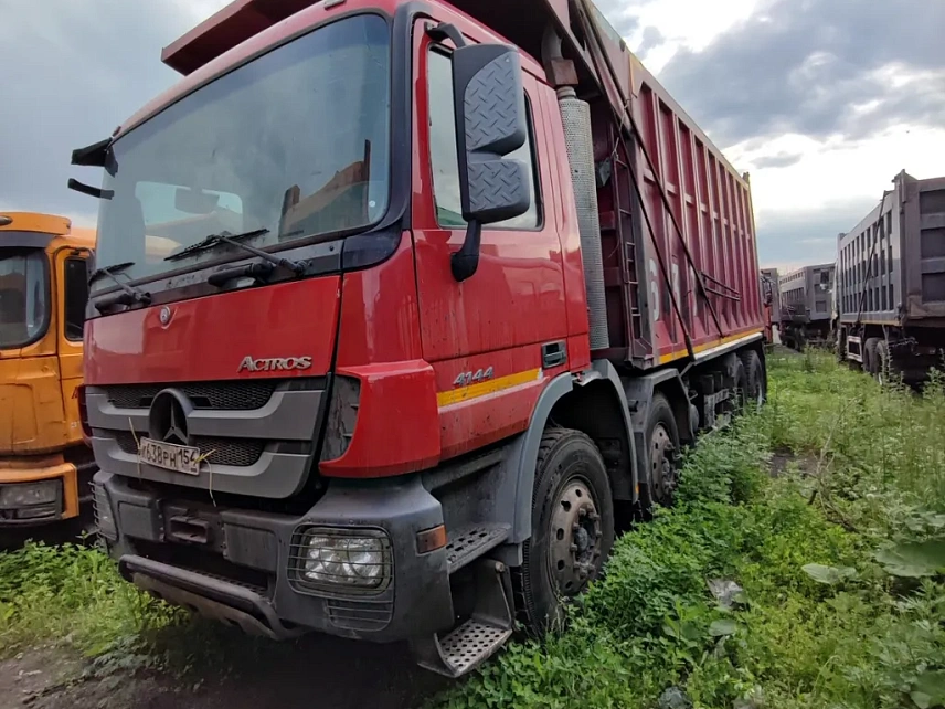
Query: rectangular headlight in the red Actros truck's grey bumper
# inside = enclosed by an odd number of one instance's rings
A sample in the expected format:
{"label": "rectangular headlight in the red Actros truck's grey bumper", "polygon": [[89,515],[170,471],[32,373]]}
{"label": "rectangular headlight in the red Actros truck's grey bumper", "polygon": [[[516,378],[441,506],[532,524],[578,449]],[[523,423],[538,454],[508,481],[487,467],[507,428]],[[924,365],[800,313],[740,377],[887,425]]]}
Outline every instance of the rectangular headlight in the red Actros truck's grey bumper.
{"label": "rectangular headlight in the red Actros truck's grey bumper", "polygon": [[309,528],[293,557],[298,590],[378,591],[392,576],[391,542],[381,530]]}

